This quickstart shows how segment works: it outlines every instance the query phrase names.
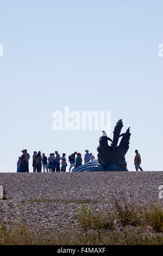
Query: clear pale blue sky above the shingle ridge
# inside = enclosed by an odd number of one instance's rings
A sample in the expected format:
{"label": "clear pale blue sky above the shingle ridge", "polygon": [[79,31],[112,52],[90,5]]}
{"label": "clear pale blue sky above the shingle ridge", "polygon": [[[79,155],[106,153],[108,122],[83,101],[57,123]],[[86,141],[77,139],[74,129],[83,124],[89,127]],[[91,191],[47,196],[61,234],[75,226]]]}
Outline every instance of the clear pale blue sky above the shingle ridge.
{"label": "clear pale blue sky above the shingle ridge", "polygon": [[[49,156],[85,149],[101,130],[54,131],[54,111],[110,111],[130,126],[143,170],[163,170],[162,0],[0,0],[0,172],[16,172],[21,150]],[[69,166],[68,166],[69,167]],[[29,161],[30,172],[32,160]],[[68,169],[67,169],[68,170]]]}

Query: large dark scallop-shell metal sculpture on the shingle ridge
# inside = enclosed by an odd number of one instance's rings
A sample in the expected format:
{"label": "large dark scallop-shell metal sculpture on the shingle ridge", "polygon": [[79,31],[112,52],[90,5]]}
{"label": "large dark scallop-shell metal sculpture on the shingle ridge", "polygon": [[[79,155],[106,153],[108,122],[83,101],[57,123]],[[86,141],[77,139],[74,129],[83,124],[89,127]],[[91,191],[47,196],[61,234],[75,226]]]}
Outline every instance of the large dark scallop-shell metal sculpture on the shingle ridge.
{"label": "large dark scallop-shell metal sculpture on the shingle ridge", "polygon": [[[92,171],[127,171],[127,163],[125,160],[125,155],[129,149],[130,140],[130,127],[125,133],[121,134],[123,127],[122,119],[118,120],[115,129],[113,139],[107,137],[106,133],[103,131],[102,137],[99,139],[98,160],[86,163],[83,166],[73,169],[73,172],[92,172]],[[120,144],[118,141],[121,138]],[[111,145],[108,145],[108,141]]]}

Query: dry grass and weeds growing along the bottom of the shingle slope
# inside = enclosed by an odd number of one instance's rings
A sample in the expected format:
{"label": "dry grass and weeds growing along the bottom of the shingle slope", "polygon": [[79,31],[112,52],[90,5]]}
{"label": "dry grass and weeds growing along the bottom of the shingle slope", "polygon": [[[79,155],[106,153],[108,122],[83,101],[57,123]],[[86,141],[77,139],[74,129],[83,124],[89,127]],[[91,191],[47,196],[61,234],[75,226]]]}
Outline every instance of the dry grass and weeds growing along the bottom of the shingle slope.
{"label": "dry grass and weeds growing along the bottom of the shingle slope", "polygon": [[[37,202],[40,199],[29,203]],[[109,212],[88,210],[89,201],[83,203],[77,224],[59,233],[30,230],[25,224],[13,224],[10,228],[1,224],[0,245],[163,245],[161,205],[133,208],[112,198],[113,211]]]}

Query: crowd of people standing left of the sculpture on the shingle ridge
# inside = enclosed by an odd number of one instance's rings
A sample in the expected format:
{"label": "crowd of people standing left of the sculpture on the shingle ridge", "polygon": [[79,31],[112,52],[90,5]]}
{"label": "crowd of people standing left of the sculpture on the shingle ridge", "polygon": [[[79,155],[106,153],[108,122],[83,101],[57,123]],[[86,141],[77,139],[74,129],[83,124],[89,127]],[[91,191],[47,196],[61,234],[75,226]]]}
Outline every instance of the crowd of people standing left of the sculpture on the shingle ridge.
{"label": "crowd of people standing left of the sculpture on the shingle ridge", "polygon": [[[18,157],[17,161],[17,172],[24,173],[29,172],[29,159],[30,155],[27,153],[27,149],[23,149],[22,156]],[[77,156],[76,156],[77,155]],[[89,153],[89,150],[85,150],[84,155],[84,163],[88,163],[90,161],[95,160],[95,156],[92,155],[92,153]],[[61,166],[60,166],[61,161]],[[68,156],[68,161],[70,162],[70,168],[69,172],[71,172],[71,169],[77,168],[78,166],[82,166],[82,154],[77,153],[75,151],[73,154]],[[33,172],[41,172],[43,168],[43,172],[66,172],[67,167],[67,161],[66,161],[66,154],[63,153],[60,157],[60,154],[58,151],[55,151],[55,153],[51,153],[49,157],[45,155],[45,153],[42,153],[41,151],[34,151],[33,153]]]}

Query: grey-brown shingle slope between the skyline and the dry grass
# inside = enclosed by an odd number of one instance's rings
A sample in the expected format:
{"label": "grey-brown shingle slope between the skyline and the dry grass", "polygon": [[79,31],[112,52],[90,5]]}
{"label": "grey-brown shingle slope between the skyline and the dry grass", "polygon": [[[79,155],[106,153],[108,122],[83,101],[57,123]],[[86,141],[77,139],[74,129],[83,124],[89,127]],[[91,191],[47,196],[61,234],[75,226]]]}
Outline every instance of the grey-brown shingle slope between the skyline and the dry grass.
{"label": "grey-brown shingle slope between the skyline and the dry grass", "polygon": [[162,203],[163,172],[0,173],[8,200],[0,200],[0,223],[24,222],[30,229],[61,231],[77,223],[86,205],[112,210],[110,196],[121,204]]}

